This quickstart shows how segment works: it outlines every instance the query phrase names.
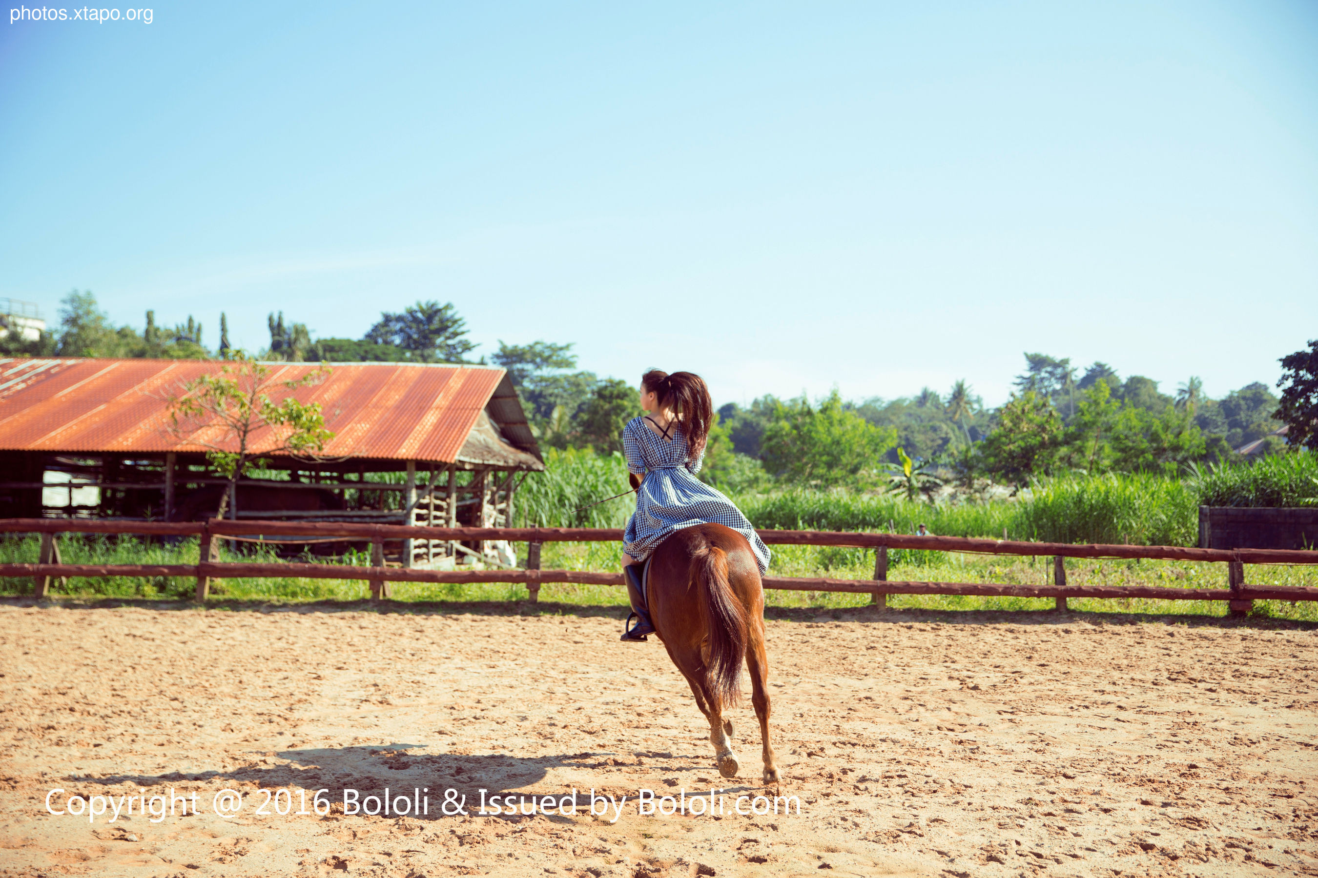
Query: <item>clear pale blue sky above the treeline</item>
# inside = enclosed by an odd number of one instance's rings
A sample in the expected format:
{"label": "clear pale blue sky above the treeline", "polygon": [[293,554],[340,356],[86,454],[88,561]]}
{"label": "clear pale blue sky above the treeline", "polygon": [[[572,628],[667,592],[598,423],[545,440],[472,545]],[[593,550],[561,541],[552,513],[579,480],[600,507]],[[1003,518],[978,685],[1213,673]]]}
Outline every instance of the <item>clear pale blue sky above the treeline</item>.
{"label": "clear pale blue sky above the treeline", "polygon": [[709,7],[7,7],[0,295],[249,349],[438,299],[717,401],[1318,337],[1318,4]]}

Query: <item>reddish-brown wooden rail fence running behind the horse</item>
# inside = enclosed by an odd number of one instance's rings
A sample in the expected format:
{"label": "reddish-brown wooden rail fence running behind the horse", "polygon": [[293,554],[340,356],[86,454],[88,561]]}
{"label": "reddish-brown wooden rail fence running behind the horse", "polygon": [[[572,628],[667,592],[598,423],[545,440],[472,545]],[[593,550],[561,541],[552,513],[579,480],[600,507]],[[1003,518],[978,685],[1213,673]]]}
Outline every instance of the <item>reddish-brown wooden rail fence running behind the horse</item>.
{"label": "reddish-brown wooden rail fence running behind the horse", "polygon": [[[34,594],[45,596],[50,581],[61,577],[186,577],[196,579],[195,599],[204,602],[211,579],[243,577],[364,579],[372,599],[389,596],[390,582],[506,582],[526,583],[531,600],[538,600],[546,582],[621,586],[621,573],[540,570],[540,546],[546,542],[616,542],[622,530],[602,528],[420,528],[390,524],[351,524],[320,521],[229,521],[163,523],[95,519],[0,519],[0,533],[41,533],[37,563],[0,565],[0,577],[32,577]],[[144,536],[196,536],[199,558],[195,565],[66,565],[61,562],[58,533],[133,533]],[[304,537],[369,541],[372,566],[326,563],[220,563],[212,548],[225,537]],[[1197,549],[1182,546],[1079,545],[1065,542],[1020,542],[974,537],[904,536],[898,533],[854,533],[832,530],[760,530],[770,545],[824,545],[874,549],[873,579],[829,579],[815,577],[764,577],[766,588],[791,591],[841,591],[870,594],[875,604],[887,606],[887,595],[983,595],[1014,598],[1053,598],[1058,609],[1068,598],[1153,598],[1162,600],[1226,600],[1232,613],[1246,613],[1255,600],[1318,600],[1318,588],[1249,586],[1244,582],[1247,563],[1318,565],[1318,552],[1284,549]],[[385,540],[507,540],[529,545],[526,567],[521,570],[414,570],[384,566]],[[970,554],[1050,555],[1053,582],[1044,586],[975,582],[890,581],[888,550],[921,549]],[[1160,586],[1068,586],[1065,558],[1144,558],[1162,561],[1207,561],[1227,565],[1227,588],[1164,588]]]}

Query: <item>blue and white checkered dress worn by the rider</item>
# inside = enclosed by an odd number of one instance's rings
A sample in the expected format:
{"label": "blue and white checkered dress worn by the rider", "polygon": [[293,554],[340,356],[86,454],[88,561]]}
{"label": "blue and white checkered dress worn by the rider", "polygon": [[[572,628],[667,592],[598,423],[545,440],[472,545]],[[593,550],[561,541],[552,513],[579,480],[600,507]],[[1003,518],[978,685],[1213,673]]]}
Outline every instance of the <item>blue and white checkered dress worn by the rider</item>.
{"label": "blue and white checkered dress worn by the rider", "polygon": [[627,455],[627,470],[645,477],[637,492],[637,511],[622,536],[623,552],[643,561],[673,530],[722,524],[746,537],[760,574],[768,570],[768,546],[746,516],[720,491],[696,478],[705,455],[688,459],[680,425],[673,424],[670,441],[651,430],[643,417],[635,417],[622,430],[622,452]]}

